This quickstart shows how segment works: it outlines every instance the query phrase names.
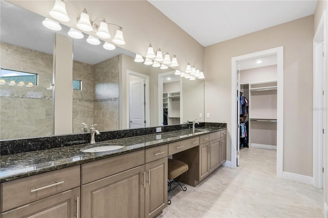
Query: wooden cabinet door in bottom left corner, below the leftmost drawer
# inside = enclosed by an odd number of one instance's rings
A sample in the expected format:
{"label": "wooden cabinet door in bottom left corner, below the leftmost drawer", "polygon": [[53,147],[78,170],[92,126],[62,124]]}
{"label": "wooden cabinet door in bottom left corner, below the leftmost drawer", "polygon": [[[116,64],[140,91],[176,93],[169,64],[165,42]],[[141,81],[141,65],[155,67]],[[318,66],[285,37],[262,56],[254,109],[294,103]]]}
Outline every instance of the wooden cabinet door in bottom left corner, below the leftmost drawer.
{"label": "wooden cabinet door in bottom left corner, below the leftmost drawer", "polygon": [[9,217],[79,217],[80,188],[74,188],[48,198],[9,210],[1,214],[2,218]]}

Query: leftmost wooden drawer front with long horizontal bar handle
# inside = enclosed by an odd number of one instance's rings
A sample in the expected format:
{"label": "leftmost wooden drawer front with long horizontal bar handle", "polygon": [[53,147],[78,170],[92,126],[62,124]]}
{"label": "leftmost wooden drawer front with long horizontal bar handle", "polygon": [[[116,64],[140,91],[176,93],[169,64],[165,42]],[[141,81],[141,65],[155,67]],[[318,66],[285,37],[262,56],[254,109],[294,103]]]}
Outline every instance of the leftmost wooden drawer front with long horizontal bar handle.
{"label": "leftmost wooden drawer front with long horizontal bar handle", "polygon": [[1,184],[2,211],[80,186],[80,166],[58,169]]}

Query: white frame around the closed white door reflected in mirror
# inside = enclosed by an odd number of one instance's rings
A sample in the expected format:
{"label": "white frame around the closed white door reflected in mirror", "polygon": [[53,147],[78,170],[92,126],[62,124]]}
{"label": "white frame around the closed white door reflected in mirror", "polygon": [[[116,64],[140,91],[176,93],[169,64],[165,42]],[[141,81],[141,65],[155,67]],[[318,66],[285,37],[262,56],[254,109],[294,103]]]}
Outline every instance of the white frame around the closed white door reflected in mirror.
{"label": "white frame around the closed white door reflected in mirror", "polygon": [[137,72],[133,72],[130,70],[127,70],[127,99],[126,99],[126,105],[127,105],[127,128],[130,126],[130,75],[132,76],[137,76],[140,77],[142,79],[145,79],[145,83],[146,83],[146,127],[150,126],[150,95],[149,95],[149,76],[145,75],[145,74],[141,74],[141,73],[137,73]]}

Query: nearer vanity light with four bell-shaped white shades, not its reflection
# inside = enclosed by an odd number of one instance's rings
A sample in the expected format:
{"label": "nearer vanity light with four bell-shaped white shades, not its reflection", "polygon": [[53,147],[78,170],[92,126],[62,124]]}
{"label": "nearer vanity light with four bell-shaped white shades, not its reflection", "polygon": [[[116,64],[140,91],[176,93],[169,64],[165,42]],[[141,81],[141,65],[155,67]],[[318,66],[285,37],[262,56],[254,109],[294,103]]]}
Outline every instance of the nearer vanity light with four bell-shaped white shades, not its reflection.
{"label": "nearer vanity light with four bell-shaped white shades, not its reflection", "polygon": [[[56,0],[55,5],[49,11],[50,16],[53,18],[60,20],[60,21],[70,21],[70,18],[66,11],[66,5],[65,3],[69,3],[75,11],[79,14],[79,18],[77,18],[77,24],[76,27],[80,30],[86,31],[86,32],[95,32],[96,35],[100,38],[110,38],[111,35],[108,31],[108,25],[114,25],[118,27],[118,30],[116,31],[115,37],[112,40],[117,45],[125,45],[125,40],[123,37],[122,27],[116,25],[116,24],[109,24],[106,21],[106,18],[104,17],[98,17],[93,22],[90,21],[90,16],[86,9],[83,9],[83,11],[80,13],[79,10],[69,1],[69,0]],[[99,26],[96,25],[96,21],[101,20]],[[60,25],[59,25],[60,26]],[[73,37],[73,36],[71,36]],[[74,38],[74,37],[73,37]]]}

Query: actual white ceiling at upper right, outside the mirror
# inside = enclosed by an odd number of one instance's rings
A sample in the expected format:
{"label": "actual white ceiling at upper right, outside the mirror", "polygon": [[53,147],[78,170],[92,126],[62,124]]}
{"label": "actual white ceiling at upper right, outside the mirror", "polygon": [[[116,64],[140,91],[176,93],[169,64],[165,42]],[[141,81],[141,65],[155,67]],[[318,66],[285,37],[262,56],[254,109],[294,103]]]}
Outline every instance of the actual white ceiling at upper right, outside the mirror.
{"label": "actual white ceiling at upper right, outside the mirror", "polygon": [[202,46],[314,14],[317,1],[148,0]]}

